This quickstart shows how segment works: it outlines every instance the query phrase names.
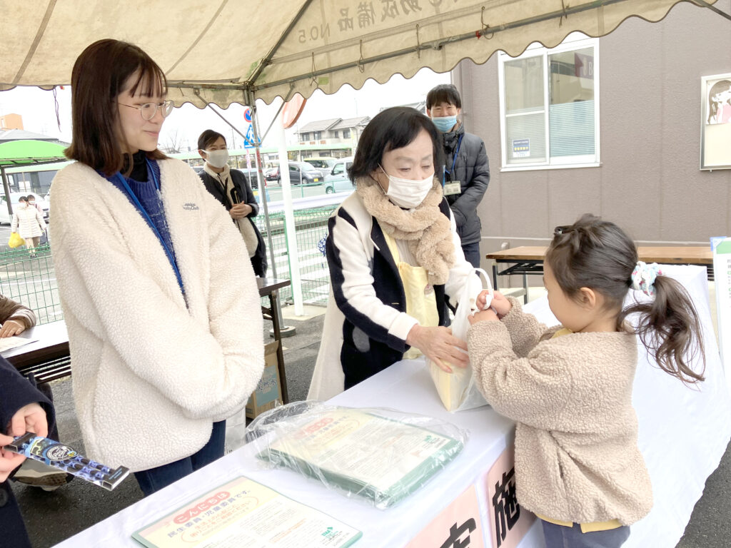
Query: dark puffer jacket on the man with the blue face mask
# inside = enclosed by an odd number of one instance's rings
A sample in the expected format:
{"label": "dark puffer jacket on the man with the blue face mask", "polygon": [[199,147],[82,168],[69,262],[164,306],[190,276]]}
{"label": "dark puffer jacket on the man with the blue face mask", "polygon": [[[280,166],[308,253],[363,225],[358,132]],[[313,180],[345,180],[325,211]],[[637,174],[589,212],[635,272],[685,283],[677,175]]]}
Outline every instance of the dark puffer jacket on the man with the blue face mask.
{"label": "dark puffer jacket on the man with the blue face mask", "polygon": [[[477,216],[477,205],[482,201],[490,183],[490,164],[488,153],[485,152],[485,143],[480,137],[466,133],[460,123],[456,131],[442,133],[444,147],[444,162],[447,170],[452,168],[455,148],[460,136],[462,142],[457,153],[455,169],[451,180],[461,183],[461,194],[447,196],[452,212],[457,222],[457,233],[463,244],[479,242],[482,237],[482,224]],[[447,175],[447,182],[450,175]]]}

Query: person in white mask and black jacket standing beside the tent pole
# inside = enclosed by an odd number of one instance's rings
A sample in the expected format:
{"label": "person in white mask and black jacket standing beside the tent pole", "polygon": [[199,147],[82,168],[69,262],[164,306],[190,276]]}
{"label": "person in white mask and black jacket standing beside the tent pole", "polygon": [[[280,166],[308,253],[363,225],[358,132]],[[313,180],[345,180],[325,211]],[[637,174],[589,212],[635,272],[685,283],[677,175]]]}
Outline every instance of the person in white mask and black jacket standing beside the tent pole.
{"label": "person in white mask and black jacket standing beside the tent pole", "polygon": [[254,274],[264,278],[267,274],[266,247],[253,219],[259,213],[259,205],[246,175],[229,167],[226,137],[206,129],[198,137],[198,153],[205,160],[203,172],[198,176],[205,189],[229,212],[246,243]]}

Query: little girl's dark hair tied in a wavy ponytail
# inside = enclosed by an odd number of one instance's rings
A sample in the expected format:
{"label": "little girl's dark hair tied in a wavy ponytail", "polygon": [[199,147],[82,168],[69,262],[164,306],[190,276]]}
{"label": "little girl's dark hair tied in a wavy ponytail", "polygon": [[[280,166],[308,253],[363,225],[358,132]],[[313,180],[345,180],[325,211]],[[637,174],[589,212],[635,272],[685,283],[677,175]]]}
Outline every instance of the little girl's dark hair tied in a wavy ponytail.
{"label": "little girl's dark hair tied in a wavy ponytail", "polygon": [[680,283],[658,275],[654,300],[622,308],[632,286],[637,248],[616,224],[587,213],[570,226],[557,227],[545,261],[567,297],[577,299],[582,287],[601,293],[607,310],[618,311],[617,330],[627,328],[627,316],[639,314],[635,332],[662,370],[686,384],[703,380],[703,372],[692,370],[686,359],[700,352],[705,371],[698,313]]}

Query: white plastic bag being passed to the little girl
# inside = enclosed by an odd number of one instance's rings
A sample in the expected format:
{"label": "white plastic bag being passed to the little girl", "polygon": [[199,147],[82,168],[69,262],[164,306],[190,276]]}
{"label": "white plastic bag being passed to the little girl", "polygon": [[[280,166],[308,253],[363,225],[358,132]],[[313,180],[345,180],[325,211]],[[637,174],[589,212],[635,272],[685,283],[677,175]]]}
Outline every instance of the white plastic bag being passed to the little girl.
{"label": "white plastic bag being passed to the little girl", "polygon": [[[487,282],[487,289],[490,290],[490,295],[492,296],[493,288],[488,274],[481,268],[475,268],[474,272],[482,275],[482,278]],[[488,305],[490,305],[490,300],[491,297],[488,297]],[[470,284],[465,283],[459,298],[455,318],[452,321],[452,335],[456,338],[467,340],[469,316],[475,310],[477,310],[475,295],[470,294]],[[436,391],[439,392],[439,397],[442,399],[442,403],[444,403],[447,411],[454,413],[455,411],[464,411],[465,409],[488,405],[474,382],[471,364],[467,365],[466,368],[458,368],[450,364],[452,373],[447,373],[431,360],[428,359],[427,361],[434,386],[436,386]]]}

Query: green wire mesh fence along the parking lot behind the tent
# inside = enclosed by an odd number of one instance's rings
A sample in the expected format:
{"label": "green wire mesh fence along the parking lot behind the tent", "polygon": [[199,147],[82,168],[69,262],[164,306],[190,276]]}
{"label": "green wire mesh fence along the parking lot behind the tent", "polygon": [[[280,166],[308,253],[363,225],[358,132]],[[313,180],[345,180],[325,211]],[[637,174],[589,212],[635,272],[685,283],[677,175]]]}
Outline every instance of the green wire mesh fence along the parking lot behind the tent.
{"label": "green wire mesh fence along the parking lot behind the tent", "polygon": [[[309,304],[327,303],[330,271],[327,269],[324,243],[327,235],[327,218],[336,207],[330,205],[294,212],[303,300]],[[284,212],[271,213],[269,219],[277,278],[289,280],[292,278],[292,273],[289,267]],[[255,221],[266,241],[267,232],[263,214],[257,216]],[[58,298],[51,249],[48,244],[44,244],[38,246],[35,251],[34,256],[31,256],[26,248],[0,251],[0,294],[35,311],[39,324],[64,319]],[[270,262],[269,253],[267,259]],[[268,275],[271,274],[270,266]],[[281,290],[279,296],[283,304],[293,302],[292,288]],[[268,300],[262,300],[262,304],[268,305]]]}

